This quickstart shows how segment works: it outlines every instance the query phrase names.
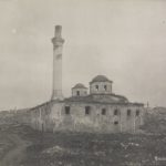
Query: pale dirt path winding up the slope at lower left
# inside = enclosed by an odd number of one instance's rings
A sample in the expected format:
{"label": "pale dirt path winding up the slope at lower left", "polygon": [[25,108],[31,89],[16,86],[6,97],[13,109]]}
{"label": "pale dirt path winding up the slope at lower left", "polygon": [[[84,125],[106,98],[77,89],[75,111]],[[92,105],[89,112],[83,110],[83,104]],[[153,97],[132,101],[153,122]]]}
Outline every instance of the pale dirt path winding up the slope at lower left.
{"label": "pale dirt path winding up the slope at lower left", "polygon": [[25,155],[24,151],[30,145],[30,143],[23,141],[17,134],[9,134],[9,137],[14,146],[4,155],[4,157],[0,162],[0,166],[20,166],[19,164]]}

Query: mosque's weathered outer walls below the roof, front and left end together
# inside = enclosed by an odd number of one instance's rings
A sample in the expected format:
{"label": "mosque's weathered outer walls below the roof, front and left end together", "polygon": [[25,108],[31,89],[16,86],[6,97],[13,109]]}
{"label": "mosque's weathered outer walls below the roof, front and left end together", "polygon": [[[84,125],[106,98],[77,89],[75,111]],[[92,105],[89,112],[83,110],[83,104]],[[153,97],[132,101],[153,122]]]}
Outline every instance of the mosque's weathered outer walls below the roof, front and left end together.
{"label": "mosque's weathered outer walls below the roof, front and left end together", "polygon": [[[86,106],[90,106],[89,113]],[[115,110],[117,115],[114,115]],[[129,115],[127,110],[131,110]],[[139,115],[136,115],[137,111]],[[54,102],[39,106],[31,113],[32,127],[41,131],[135,133],[143,124],[144,107],[135,104]]]}

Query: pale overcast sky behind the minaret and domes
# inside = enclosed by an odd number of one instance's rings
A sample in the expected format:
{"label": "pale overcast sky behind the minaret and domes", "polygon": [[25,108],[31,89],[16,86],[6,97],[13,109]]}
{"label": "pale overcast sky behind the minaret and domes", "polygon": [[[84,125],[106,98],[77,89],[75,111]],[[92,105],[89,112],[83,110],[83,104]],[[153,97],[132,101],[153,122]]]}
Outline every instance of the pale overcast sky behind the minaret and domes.
{"label": "pale overcast sky behind the minaret and domes", "polygon": [[166,1],[0,0],[0,110],[51,98],[62,25],[63,94],[98,74],[131,102],[166,106]]}

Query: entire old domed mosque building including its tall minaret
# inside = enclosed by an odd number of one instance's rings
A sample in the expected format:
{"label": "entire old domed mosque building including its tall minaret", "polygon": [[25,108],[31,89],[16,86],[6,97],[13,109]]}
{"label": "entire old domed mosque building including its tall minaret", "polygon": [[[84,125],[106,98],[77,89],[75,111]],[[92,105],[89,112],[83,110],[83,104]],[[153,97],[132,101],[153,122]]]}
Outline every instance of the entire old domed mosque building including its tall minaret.
{"label": "entire old domed mosque building including its tall minaret", "polygon": [[144,123],[144,104],[114,94],[113,81],[96,75],[90,86],[77,83],[70,97],[62,93],[62,27],[55,27],[53,43],[53,87],[51,100],[30,110],[30,123],[40,131],[136,133]]}

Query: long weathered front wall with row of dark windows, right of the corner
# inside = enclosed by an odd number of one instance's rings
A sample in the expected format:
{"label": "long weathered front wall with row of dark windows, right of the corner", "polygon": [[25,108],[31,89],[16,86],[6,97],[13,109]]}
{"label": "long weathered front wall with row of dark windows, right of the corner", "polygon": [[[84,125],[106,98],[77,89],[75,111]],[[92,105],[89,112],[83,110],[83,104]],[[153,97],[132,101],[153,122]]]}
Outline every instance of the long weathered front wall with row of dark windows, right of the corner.
{"label": "long weathered front wall with row of dark windows, right of the corner", "polygon": [[[70,107],[66,114],[65,106]],[[90,106],[90,113],[85,113],[85,106]],[[103,110],[105,113],[103,114]],[[117,115],[114,115],[117,110]],[[131,115],[127,115],[131,110]],[[136,111],[139,115],[136,115]],[[110,105],[94,103],[55,103],[51,111],[51,121],[54,123],[53,131],[82,131],[82,132],[102,132],[135,133],[143,123],[144,108],[135,105]]]}

